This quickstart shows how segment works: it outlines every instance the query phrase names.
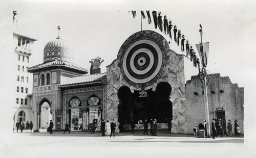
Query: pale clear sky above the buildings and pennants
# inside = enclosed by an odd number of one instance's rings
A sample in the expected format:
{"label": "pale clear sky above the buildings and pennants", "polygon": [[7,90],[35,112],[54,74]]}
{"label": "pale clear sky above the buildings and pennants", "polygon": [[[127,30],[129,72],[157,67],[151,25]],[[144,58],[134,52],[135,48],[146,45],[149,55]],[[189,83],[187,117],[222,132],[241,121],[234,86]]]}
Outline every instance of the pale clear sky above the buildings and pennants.
{"label": "pale clear sky above the buildings and pennants", "polygon": [[[44,47],[58,37],[60,25],[60,38],[73,49],[74,63],[90,69],[89,61],[100,57],[104,60],[101,72],[105,72],[106,66],[117,58],[123,42],[141,31],[140,10],[145,15],[146,10],[166,15],[195,50],[195,44],[200,42],[201,24],[203,42],[209,42],[207,70],[229,76],[232,83],[244,87],[247,113],[255,111],[256,101],[255,4],[256,1],[1,1],[1,27],[2,31],[14,29],[37,39],[30,58],[30,66],[34,66],[43,62]],[[17,11],[17,24],[12,23],[13,10]],[[133,18],[129,10],[135,10],[137,16]],[[182,54],[174,40],[154,28],[153,18],[152,24],[148,24],[147,16],[142,19],[142,30],[158,32],[170,41],[170,49]],[[1,55],[5,56],[3,52]],[[184,64],[187,81],[198,74],[198,69],[187,58]],[[246,119],[255,117],[245,115]]]}

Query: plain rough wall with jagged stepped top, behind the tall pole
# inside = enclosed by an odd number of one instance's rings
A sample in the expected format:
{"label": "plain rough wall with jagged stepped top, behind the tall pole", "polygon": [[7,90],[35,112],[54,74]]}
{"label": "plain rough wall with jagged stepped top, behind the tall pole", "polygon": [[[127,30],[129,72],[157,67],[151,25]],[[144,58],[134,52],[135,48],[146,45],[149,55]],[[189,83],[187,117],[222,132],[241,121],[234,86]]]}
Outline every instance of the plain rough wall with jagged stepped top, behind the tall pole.
{"label": "plain rough wall with jagged stepped top, behind the tall pole", "polygon": [[[223,108],[225,111],[226,124],[228,119],[238,120],[241,133],[244,133],[244,88],[238,87],[238,84],[232,84],[229,77],[221,77],[219,73],[209,74],[210,82],[208,84],[208,107],[209,119],[216,118],[217,108]],[[187,122],[184,128],[185,133],[192,133],[193,127],[199,123],[203,124],[205,120],[205,106],[203,100],[202,83],[198,76],[191,76],[191,80],[186,82],[186,105]],[[198,95],[195,95],[194,93]],[[233,125],[234,127],[234,125]],[[210,127],[211,129],[211,127]],[[232,129],[234,130],[234,129]]]}

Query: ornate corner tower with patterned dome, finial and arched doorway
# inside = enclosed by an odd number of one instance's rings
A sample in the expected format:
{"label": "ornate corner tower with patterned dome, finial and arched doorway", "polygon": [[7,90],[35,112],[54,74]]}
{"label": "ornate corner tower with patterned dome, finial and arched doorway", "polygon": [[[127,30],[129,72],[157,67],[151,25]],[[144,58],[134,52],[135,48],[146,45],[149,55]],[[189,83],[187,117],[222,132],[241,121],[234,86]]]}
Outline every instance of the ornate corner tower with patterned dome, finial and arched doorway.
{"label": "ornate corner tower with patterned dome, finial and arched doorway", "polygon": [[71,77],[87,74],[89,70],[73,64],[72,49],[58,36],[46,44],[44,63],[28,68],[28,72],[33,73],[34,129],[47,129],[50,119],[54,129],[62,129],[65,122],[61,122],[61,118],[66,117],[66,111],[62,108],[58,85]]}

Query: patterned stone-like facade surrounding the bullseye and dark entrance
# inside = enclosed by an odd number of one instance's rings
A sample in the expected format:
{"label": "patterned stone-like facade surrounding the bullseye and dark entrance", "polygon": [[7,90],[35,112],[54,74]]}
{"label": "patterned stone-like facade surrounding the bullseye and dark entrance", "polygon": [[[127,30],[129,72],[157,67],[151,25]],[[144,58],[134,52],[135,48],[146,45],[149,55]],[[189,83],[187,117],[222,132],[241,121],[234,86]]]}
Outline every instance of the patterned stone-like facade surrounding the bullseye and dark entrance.
{"label": "patterned stone-like facade surrounding the bullseye and dark entrance", "polygon": [[[167,41],[158,33],[153,31],[142,31],[135,33],[129,37],[120,47],[117,59],[106,68],[106,119],[112,120],[115,118],[118,122],[118,104],[119,100],[117,97],[118,89],[121,86],[127,86],[134,90],[142,90],[136,84],[129,84],[123,80],[123,74],[120,70],[120,62],[122,54],[126,51],[127,46],[131,45],[132,41],[136,41],[136,38],[143,39],[143,36],[147,38],[152,36],[153,39],[157,38],[162,41],[162,45],[166,52],[166,64],[164,69],[158,77],[158,80],[153,84],[145,87],[144,90],[153,89],[156,90],[157,84],[160,82],[168,82],[172,86],[172,93],[170,94],[170,101],[173,103],[173,133],[184,133],[183,126],[186,123],[186,105],[185,105],[185,78],[184,78],[184,57],[183,55],[177,54],[175,51],[169,48]],[[159,42],[159,41],[158,41]],[[117,128],[118,131],[118,128]]]}

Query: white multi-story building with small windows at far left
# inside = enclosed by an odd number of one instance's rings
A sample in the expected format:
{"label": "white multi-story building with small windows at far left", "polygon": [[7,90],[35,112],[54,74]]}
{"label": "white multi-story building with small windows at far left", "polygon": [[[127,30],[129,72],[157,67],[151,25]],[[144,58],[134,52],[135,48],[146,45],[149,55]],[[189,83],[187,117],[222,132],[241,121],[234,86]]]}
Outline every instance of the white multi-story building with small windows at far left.
{"label": "white multi-story building with small windows at far left", "polygon": [[[13,33],[13,55],[14,55],[14,70],[16,74],[15,88],[16,104],[14,108],[14,125],[16,122],[31,121],[31,96],[32,82],[30,74],[27,71],[29,68],[30,56],[32,55],[33,43],[36,39]],[[14,126],[14,129],[16,127]],[[16,131],[16,130],[14,130]]]}

